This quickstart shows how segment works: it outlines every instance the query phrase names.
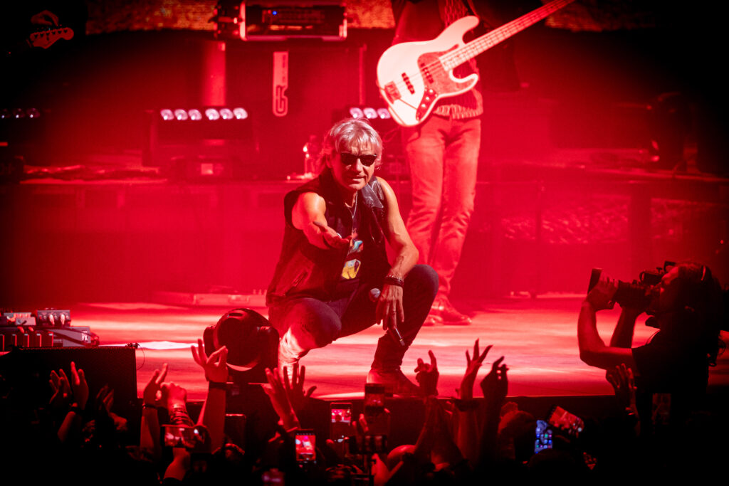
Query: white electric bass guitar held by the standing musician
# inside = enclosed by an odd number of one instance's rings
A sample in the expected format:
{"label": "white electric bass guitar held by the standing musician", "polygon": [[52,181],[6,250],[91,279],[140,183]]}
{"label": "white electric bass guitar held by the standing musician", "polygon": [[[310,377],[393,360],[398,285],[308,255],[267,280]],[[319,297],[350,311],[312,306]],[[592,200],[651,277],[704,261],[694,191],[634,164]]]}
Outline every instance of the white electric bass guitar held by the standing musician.
{"label": "white electric bass guitar held by the standing musician", "polygon": [[514,34],[533,26],[574,0],[553,0],[533,12],[465,44],[463,36],[478,25],[478,17],[462,17],[437,36],[423,42],[395,44],[383,52],[377,65],[377,83],[390,114],[399,125],[412,127],[430,114],[440,98],[466,93],[478,75],[462,79],[453,69]]}

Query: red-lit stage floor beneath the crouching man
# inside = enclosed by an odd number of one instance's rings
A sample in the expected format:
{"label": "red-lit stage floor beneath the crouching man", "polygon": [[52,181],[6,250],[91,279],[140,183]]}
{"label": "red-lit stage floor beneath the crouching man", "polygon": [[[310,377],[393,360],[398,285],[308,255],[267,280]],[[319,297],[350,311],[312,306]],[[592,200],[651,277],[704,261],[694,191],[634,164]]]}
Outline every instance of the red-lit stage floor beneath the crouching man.
{"label": "red-lit stage floor beneath the crouching man", "polygon": [[[437,358],[440,396],[454,396],[466,366],[465,351],[473,342],[494,345],[486,357],[479,380],[496,358],[505,356],[509,367],[509,396],[590,396],[612,394],[605,373],[580,361],[577,351],[577,314],[581,297],[557,296],[494,299],[462,305],[470,310],[470,326],[431,326],[421,329],[408,350],[403,371],[414,380],[418,358]],[[192,360],[190,345],[215,324],[226,308],[176,307],[153,303],[87,303],[71,307],[72,324],[90,326],[101,345],[138,342],[136,351],[139,396],[155,369],[168,363],[167,381],[187,389],[189,400],[205,398],[202,370]],[[265,308],[255,309],[267,315]],[[599,331],[607,342],[619,310],[598,315]],[[636,325],[634,345],[644,343],[655,329]],[[312,350],[302,359],[306,385],[316,385],[319,399],[362,396],[380,326],[344,337],[326,348]],[[725,340],[729,336],[725,334]],[[729,385],[729,353],[710,369],[709,386]],[[481,396],[478,386],[475,396]]]}

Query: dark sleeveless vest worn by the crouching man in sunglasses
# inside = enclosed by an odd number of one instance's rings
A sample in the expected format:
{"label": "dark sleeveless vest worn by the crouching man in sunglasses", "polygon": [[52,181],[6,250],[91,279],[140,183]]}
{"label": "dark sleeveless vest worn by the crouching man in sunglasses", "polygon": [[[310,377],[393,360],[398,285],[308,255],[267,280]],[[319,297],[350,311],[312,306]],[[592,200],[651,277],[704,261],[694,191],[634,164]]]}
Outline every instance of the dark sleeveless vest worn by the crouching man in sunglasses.
{"label": "dark sleeveless vest worn by the crouching man in sunglasses", "polygon": [[[347,248],[324,249],[309,243],[302,230],[291,222],[292,209],[304,192],[316,192],[324,198],[327,224],[340,235],[352,231],[352,215],[344,204],[331,172],[325,169],[319,177],[297,187],[284,197],[286,228],[281,255],[278,257],[273,280],[266,292],[266,305],[276,305],[283,299],[313,297],[321,300],[335,299],[335,289],[340,281]],[[386,227],[385,195],[376,177],[358,192],[360,213],[359,238],[364,243],[365,264],[360,278],[379,286],[389,271],[385,247]]]}

